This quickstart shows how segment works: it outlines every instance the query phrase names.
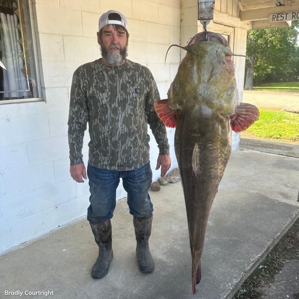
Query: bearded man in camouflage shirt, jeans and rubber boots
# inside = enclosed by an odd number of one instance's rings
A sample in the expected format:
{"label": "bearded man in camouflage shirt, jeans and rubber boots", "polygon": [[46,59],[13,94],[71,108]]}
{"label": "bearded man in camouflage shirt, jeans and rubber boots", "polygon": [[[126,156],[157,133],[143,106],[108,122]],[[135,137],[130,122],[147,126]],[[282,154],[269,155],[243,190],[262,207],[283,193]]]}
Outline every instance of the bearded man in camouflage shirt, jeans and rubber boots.
{"label": "bearded man in camouflage shirt, jeans and rubber boots", "polygon": [[143,273],[154,271],[149,249],[153,205],[148,190],[152,183],[147,123],[159,147],[157,168],[161,176],[170,168],[166,128],[154,104],[159,92],[149,69],[126,59],[129,33],[126,17],[110,10],[99,19],[98,43],[102,58],[81,65],[72,81],[69,109],[70,173],[83,182],[83,135],[89,124],[87,175],[90,206],[87,219],[99,247],[92,277],[102,278],[113,258],[111,221],[116,188],[123,181],[133,215],[136,255]]}

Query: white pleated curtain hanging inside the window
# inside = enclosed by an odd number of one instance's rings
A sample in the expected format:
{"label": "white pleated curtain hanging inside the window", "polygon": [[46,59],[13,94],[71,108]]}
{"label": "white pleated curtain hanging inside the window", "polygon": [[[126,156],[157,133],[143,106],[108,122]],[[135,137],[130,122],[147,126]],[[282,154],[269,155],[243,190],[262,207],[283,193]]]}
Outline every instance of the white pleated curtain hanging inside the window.
{"label": "white pleated curtain hanging inside the window", "polygon": [[[26,76],[22,72],[24,60],[21,58],[22,48],[19,43],[19,29],[17,28],[18,20],[16,14],[9,15],[0,13],[0,31],[1,31],[1,48],[2,63],[7,70],[3,69],[3,89],[24,90],[28,89]],[[5,98],[22,98],[31,96],[30,91],[14,91],[4,93]]]}

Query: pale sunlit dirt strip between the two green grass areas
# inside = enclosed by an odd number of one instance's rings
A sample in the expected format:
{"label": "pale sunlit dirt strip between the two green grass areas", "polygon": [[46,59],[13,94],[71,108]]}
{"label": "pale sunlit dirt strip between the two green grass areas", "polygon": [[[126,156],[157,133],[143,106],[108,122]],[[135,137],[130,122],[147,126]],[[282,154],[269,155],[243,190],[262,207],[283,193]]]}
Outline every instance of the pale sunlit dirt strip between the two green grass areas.
{"label": "pale sunlit dirt strip between the two green grass areas", "polygon": [[299,110],[299,92],[244,90],[243,102],[271,110]]}

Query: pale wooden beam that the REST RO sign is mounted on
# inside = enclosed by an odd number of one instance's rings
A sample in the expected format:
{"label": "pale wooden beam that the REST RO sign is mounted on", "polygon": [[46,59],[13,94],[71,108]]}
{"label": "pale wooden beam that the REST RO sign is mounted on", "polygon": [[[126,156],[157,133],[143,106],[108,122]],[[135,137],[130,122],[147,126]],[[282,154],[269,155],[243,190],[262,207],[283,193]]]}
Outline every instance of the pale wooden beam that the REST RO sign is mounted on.
{"label": "pale wooden beam that the REST RO sign is mounted on", "polygon": [[272,13],[292,12],[298,10],[299,4],[245,10],[244,12],[240,11],[240,19],[241,21],[266,20]]}

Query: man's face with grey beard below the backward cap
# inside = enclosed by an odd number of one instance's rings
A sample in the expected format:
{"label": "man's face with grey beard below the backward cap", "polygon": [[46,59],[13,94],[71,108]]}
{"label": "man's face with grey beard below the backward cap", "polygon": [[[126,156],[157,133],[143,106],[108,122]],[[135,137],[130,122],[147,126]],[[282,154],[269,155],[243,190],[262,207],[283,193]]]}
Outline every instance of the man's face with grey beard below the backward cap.
{"label": "man's face with grey beard below the backward cap", "polygon": [[119,66],[125,62],[129,39],[126,31],[117,31],[109,24],[103,28],[102,36],[97,32],[97,39],[101,46],[102,57],[108,64]]}

